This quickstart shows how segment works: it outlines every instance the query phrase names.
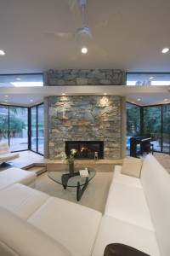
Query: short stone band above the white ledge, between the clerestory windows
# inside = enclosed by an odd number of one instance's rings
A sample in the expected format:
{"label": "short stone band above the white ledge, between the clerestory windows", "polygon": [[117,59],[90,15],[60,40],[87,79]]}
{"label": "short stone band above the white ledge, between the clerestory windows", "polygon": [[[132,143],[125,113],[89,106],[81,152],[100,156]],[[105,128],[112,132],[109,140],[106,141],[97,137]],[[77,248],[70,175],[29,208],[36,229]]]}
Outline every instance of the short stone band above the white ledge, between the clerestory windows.
{"label": "short stone band above the white ledge, between the clerestory windows", "polygon": [[120,69],[49,70],[48,85],[120,85]]}

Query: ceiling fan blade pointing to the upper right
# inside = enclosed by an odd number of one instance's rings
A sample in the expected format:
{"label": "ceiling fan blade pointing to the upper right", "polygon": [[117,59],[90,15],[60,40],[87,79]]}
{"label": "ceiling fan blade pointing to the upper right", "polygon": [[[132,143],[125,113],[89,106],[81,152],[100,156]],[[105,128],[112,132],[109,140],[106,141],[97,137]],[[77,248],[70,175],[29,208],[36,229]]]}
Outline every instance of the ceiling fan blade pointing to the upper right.
{"label": "ceiling fan blade pointing to the upper right", "polygon": [[122,20],[122,14],[117,13],[116,15],[111,15],[108,19],[100,22],[99,24],[96,24],[93,28],[94,32],[99,31],[100,29],[105,29],[107,27],[113,27],[117,23],[119,23]]}

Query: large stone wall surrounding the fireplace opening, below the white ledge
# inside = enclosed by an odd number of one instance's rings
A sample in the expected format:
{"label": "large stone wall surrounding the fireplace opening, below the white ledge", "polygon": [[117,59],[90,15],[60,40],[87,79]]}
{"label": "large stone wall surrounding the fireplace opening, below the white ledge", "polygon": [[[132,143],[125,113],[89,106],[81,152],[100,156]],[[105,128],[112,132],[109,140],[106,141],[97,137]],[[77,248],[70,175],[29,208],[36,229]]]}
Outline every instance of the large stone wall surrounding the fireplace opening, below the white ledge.
{"label": "large stone wall surrounding the fireplace opening, below the white ledge", "polygon": [[120,96],[49,96],[49,159],[65,141],[104,141],[104,158],[120,159]]}

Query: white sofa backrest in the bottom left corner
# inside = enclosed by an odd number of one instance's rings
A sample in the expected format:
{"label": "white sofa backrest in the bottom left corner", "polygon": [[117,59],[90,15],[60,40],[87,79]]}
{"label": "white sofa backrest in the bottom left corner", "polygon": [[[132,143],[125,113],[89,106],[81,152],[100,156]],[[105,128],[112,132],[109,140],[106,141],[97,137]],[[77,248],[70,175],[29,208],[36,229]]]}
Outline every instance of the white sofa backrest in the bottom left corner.
{"label": "white sofa backrest in the bottom left corner", "polygon": [[59,241],[0,207],[0,255],[73,256]]}

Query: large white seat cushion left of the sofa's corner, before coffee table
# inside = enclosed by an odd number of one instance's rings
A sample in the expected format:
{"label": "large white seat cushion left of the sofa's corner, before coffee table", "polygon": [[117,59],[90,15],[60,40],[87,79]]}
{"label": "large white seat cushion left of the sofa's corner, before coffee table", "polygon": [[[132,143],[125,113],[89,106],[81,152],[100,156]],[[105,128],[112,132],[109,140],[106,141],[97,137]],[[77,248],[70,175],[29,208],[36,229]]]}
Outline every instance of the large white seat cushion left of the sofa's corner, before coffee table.
{"label": "large white seat cushion left of the sofa's corner, before coffee table", "polygon": [[28,222],[64,244],[74,256],[90,256],[101,218],[93,209],[50,197]]}

